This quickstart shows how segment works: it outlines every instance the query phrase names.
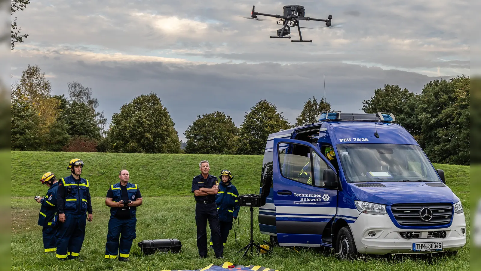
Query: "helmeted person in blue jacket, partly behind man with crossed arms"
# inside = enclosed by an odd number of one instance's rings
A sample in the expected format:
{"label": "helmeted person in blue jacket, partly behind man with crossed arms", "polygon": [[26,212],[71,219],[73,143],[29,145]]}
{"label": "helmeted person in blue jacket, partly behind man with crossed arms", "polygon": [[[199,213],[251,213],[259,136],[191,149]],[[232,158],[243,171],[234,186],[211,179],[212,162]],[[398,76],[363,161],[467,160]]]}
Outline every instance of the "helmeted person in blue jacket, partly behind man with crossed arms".
{"label": "helmeted person in blue jacket, partly behind man with crossed arms", "polygon": [[232,221],[237,218],[241,206],[237,200],[239,192],[231,182],[234,176],[232,176],[230,171],[224,169],[219,177],[222,182],[219,185],[215,203],[217,204],[217,213],[219,214],[220,236],[223,245],[226,245],[229,231],[232,230]]}

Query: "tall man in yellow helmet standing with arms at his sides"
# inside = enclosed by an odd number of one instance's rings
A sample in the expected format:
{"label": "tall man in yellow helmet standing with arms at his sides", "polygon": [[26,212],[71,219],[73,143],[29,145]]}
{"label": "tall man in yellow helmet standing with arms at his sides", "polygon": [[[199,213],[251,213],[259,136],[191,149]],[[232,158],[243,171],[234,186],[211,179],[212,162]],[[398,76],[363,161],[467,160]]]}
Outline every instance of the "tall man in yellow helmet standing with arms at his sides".
{"label": "tall man in yellow helmet standing with arms at his sides", "polygon": [[56,235],[59,260],[79,256],[85,238],[86,220],[93,219],[89,180],[80,177],[83,166],[84,162],[78,158],[70,160],[67,169],[72,174],[59,182],[57,205],[60,223]]}

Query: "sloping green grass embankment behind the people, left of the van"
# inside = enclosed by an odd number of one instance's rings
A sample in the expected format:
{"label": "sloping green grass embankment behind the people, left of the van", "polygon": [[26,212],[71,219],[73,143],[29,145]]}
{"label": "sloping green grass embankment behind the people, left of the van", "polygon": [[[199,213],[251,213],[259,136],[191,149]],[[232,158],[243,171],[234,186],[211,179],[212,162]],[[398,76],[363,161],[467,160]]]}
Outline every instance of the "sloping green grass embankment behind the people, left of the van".
{"label": "sloping green grass embankment behind the people, left of the van", "polygon": [[109,185],[119,182],[123,168],[130,173],[130,182],[139,185],[145,196],[192,196],[192,178],[199,175],[199,162],[208,160],[211,174],[222,169],[234,175],[232,180],[241,194],[259,191],[262,155],[144,154],[97,152],[12,151],[12,197],[30,197],[47,187],[38,181],[46,172],[57,179],[70,175],[67,170],[73,158],[85,163],[82,177],[90,182],[92,197],[104,197]]}

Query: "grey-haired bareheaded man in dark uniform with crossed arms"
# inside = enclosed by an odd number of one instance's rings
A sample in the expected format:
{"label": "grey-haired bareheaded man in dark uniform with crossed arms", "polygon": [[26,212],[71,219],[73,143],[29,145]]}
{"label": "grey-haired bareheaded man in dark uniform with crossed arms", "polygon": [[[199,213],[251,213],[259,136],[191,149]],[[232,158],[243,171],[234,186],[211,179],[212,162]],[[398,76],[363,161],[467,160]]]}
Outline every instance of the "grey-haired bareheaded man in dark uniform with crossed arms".
{"label": "grey-haired bareheaded man in dark uniform with crossed arms", "polygon": [[219,215],[215,204],[215,195],[219,191],[217,177],[209,174],[209,161],[199,163],[201,174],[192,179],[194,193],[195,223],[197,225],[197,248],[201,258],[207,257],[207,220],[211,229],[212,242],[216,258],[224,258],[224,246],[220,236]]}

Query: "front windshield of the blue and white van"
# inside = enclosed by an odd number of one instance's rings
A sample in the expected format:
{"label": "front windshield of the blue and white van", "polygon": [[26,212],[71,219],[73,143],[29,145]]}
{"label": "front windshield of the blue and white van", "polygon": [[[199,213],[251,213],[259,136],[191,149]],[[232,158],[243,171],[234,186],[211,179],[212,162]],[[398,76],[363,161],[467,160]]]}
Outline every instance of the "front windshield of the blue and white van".
{"label": "front windshield of the blue and white van", "polygon": [[338,144],[336,147],[347,182],[441,182],[419,146]]}

